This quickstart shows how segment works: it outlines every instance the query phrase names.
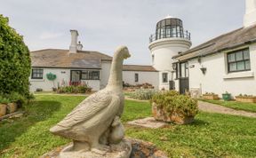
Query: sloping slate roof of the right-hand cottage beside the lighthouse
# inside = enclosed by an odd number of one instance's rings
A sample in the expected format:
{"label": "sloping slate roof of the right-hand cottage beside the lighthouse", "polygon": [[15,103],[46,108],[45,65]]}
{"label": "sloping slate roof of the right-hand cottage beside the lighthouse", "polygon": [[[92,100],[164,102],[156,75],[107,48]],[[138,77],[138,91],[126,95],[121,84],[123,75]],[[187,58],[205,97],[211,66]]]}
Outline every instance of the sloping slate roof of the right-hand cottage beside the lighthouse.
{"label": "sloping slate roof of the right-hand cottage beside the lighthouse", "polygon": [[198,56],[206,56],[212,53],[234,49],[248,43],[256,43],[256,25],[248,28],[239,28],[213,38],[206,43],[202,43],[188,51],[174,56],[173,59],[192,59]]}

